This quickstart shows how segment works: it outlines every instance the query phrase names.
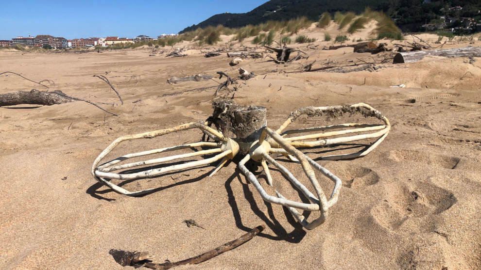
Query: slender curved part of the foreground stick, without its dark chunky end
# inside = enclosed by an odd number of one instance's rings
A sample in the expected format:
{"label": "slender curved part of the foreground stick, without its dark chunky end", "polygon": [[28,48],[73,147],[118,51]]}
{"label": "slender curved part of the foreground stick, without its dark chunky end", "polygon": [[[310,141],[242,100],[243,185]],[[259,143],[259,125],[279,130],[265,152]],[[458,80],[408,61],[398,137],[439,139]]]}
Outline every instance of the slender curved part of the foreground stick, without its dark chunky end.
{"label": "slender curved part of the foreground stick, without its dark chunky end", "polygon": [[[213,250],[210,250],[206,253],[197,255],[195,257],[191,257],[189,259],[179,261],[179,262],[166,262],[166,263],[146,263],[144,266],[150,269],[155,270],[163,270],[163,269],[171,269],[172,267],[180,266],[180,265],[191,265],[191,264],[199,264],[205,262],[206,260],[212,259],[215,256],[223,254],[226,251],[232,250],[237,248],[238,246],[242,245],[243,243],[249,241],[250,239],[254,238],[258,233],[265,229],[264,225],[260,225],[252,229],[250,232],[244,234],[240,238],[237,238],[233,241],[227,242],[222,246],[219,246]],[[145,253],[142,253],[142,257],[147,257]],[[132,261],[132,259],[131,259]]]}

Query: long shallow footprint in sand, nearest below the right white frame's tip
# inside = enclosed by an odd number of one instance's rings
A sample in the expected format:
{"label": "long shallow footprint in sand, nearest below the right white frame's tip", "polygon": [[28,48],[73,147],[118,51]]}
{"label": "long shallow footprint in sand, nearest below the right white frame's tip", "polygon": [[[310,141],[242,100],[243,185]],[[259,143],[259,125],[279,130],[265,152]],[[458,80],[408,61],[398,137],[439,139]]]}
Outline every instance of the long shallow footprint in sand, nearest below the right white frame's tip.
{"label": "long shallow footprint in sand, nearest below the right white frame's tip", "polygon": [[442,167],[445,169],[455,169],[460,159],[454,156],[432,154],[430,152],[417,151],[417,150],[393,150],[389,152],[389,159],[394,161],[408,160],[417,163]]}

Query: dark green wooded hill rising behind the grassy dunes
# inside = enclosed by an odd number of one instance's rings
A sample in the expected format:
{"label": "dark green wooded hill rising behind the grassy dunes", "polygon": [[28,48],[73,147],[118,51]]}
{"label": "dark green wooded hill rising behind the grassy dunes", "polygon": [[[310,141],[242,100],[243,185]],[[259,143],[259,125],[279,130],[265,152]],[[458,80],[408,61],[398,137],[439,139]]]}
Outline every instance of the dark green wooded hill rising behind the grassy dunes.
{"label": "dark green wooded hill rising behind the grassy dunes", "polygon": [[[452,10],[451,7],[455,6],[463,8]],[[439,19],[439,16],[474,17],[481,20],[481,14],[478,13],[481,9],[480,0],[270,0],[247,13],[223,13],[211,16],[179,33],[217,25],[240,28],[246,25],[258,25],[269,20],[288,21],[299,16],[318,21],[323,13],[334,16],[334,21],[340,23],[342,18],[336,17],[335,13],[359,14],[366,7],[383,12],[407,32],[419,31],[422,24]]]}

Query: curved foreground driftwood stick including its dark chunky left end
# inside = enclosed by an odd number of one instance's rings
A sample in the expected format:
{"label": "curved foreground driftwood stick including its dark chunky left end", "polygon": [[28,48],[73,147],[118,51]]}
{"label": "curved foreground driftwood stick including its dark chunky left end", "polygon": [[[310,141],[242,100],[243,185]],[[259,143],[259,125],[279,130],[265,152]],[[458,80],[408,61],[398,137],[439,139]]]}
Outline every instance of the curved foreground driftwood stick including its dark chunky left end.
{"label": "curved foreground driftwood stick including its dark chunky left end", "polygon": [[[242,235],[240,238],[237,238],[233,241],[227,242],[227,243],[223,244],[222,246],[219,246],[219,247],[217,247],[213,250],[210,250],[206,253],[197,255],[195,257],[191,257],[191,258],[186,259],[186,260],[182,260],[182,261],[178,261],[178,262],[174,262],[174,263],[171,263],[169,261],[167,261],[165,263],[147,262],[143,266],[146,267],[146,268],[150,268],[150,269],[163,270],[163,269],[171,269],[172,267],[181,266],[181,265],[199,264],[199,263],[205,262],[206,260],[210,260],[215,256],[223,254],[226,251],[237,248],[238,246],[242,245],[243,243],[245,243],[245,242],[249,241],[250,239],[254,238],[256,235],[258,235],[264,229],[265,229],[264,225],[259,225],[259,226],[255,227],[254,229],[252,229],[251,231],[249,231],[248,233]],[[117,250],[115,250],[115,251],[116,251],[116,254],[119,254],[119,251],[117,251]],[[142,260],[148,260],[150,258],[148,252],[142,252],[142,253],[133,252],[132,253],[132,252],[121,252],[120,251],[120,253],[122,255],[119,256],[119,257],[114,257],[114,259],[122,266],[134,266],[138,262],[141,262]],[[110,254],[112,254],[112,256],[114,256],[114,253],[112,252],[112,250],[111,250]]]}

